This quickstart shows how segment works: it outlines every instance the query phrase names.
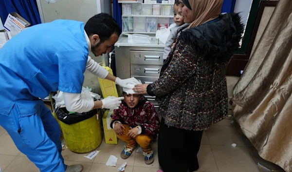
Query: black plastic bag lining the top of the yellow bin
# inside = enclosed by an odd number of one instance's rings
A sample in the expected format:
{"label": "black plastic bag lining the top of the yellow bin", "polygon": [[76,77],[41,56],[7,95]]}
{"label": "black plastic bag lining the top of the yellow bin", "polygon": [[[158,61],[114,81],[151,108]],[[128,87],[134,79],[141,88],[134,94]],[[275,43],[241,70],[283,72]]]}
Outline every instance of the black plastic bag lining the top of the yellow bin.
{"label": "black plastic bag lining the top of the yellow bin", "polygon": [[85,119],[89,119],[96,114],[97,114],[97,109],[93,109],[85,113],[73,113],[73,114],[69,114],[66,108],[59,108],[56,111],[57,118],[68,125],[84,121]]}

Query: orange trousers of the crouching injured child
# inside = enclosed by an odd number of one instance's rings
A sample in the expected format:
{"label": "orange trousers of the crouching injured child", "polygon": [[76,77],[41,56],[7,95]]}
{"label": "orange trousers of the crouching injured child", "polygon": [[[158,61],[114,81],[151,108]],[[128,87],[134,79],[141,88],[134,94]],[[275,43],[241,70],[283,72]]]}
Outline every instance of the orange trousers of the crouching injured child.
{"label": "orange trousers of the crouching injured child", "polygon": [[135,142],[138,143],[140,145],[141,148],[143,148],[143,150],[145,149],[149,149],[150,148],[150,143],[153,140],[153,136],[152,135],[144,135],[144,134],[140,134],[136,137],[136,139],[128,136],[128,132],[129,130],[131,130],[131,128],[128,125],[123,124],[123,126],[125,127],[126,130],[123,129],[124,134],[123,135],[117,135],[117,137],[123,141],[125,141],[126,143],[128,143],[129,145],[134,145]]}

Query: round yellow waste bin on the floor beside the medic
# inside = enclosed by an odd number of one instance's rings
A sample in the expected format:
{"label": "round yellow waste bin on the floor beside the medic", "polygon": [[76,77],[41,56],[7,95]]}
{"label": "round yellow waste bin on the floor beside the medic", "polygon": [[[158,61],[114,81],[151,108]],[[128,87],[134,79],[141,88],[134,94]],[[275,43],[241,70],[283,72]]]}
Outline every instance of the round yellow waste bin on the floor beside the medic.
{"label": "round yellow waste bin on the floor beside the medic", "polygon": [[102,142],[100,111],[97,115],[75,124],[59,122],[66,146],[74,153],[91,152]]}

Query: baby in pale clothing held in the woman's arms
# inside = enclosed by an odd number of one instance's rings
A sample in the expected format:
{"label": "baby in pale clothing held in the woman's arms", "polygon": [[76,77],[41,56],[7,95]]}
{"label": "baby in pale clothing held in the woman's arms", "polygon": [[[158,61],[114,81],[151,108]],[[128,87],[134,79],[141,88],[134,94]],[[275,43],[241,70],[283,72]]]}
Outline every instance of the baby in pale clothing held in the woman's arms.
{"label": "baby in pale clothing held in the woman's arms", "polygon": [[163,59],[166,59],[168,57],[168,54],[171,51],[172,44],[176,42],[176,38],[178,38],[180,35],[179,34],[180,29],[186,28],[189,25],[189,23],[183,22],[183,16],[181,13],[178,12],[179,7],[180,7],[179,0],[176,0],[173,6],[173,20],[175,23],[172,24],[175,26],[174,27],[169,26],[171,27],[170,34],[165,43]]}

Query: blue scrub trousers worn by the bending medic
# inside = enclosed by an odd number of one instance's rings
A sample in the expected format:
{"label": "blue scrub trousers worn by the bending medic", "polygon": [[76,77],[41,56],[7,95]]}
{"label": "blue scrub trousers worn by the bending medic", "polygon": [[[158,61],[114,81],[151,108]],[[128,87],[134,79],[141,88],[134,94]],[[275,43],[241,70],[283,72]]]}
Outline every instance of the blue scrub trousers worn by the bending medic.
{"label": "blue scrub trousers worn by the bending medic", "polygon": [[44,104],[36,114],[20,115],[16,103],[9,115],[0,115],[0,125],[40,172],[65,172],[60,127]]}

